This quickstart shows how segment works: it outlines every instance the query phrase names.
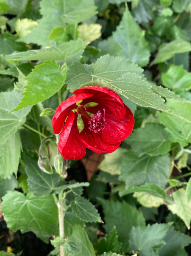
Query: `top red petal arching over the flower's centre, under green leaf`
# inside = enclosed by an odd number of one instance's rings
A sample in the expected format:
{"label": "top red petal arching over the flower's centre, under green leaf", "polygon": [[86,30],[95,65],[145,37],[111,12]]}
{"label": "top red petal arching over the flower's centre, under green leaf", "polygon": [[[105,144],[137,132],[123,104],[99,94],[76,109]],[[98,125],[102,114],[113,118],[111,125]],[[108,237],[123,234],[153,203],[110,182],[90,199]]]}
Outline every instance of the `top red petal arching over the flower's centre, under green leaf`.
{"label": "top red petal arching over the flower's centre, under green leaf", "polygon": [[119,119],[124,118],[125,116],[125,108],[124,102],[119,97],[117,93],[112,90],[109,90],[105,87],[100,86],[85,86],[83,88],[77,89],[73,92],[73,94],[81,94],[81,93],[90,93],[93,96],[87,100],[84,99],[83,105],[89,102],[96,102],[101,106],[107,107],[110,111]]}

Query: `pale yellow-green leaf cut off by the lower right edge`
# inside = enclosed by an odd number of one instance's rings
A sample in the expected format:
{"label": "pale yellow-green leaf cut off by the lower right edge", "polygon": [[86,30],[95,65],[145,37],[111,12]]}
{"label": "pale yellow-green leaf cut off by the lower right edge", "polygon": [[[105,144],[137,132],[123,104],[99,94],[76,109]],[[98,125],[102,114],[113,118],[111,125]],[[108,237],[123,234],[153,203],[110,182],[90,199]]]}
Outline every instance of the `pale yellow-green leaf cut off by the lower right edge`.
{"label": "pale yellow-green leaf cut off by the lower right edge", "polygon": [[185,225],[190,229],[191,223],[191,201],[187,202],[186,192],[183,188],[173,192],[174,203],[169,204],[168,208],[173,213],[180,217],[185,222]]}

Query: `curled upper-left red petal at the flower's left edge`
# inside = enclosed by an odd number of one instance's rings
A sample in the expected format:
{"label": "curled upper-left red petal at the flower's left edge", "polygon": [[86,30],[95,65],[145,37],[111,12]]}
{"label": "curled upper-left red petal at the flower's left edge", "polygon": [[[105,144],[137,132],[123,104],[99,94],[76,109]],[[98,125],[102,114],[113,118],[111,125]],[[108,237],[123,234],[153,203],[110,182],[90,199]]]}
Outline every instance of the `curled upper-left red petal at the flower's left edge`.
{"label": "curled upper-left red petal at the flower's left edge", "polygon": [[76,103],[78,101],[84,100],[86,98],[91,97],[92,94],[82,93],[80,95],[73,95],[68,98],[66,101],[62,101],[59,106],[56,108],[56,112],[52,118],[52,126],[53,130],[56,134],[58,134],[64,125],[64,122],[69,114],[69,112],[75,109]]}

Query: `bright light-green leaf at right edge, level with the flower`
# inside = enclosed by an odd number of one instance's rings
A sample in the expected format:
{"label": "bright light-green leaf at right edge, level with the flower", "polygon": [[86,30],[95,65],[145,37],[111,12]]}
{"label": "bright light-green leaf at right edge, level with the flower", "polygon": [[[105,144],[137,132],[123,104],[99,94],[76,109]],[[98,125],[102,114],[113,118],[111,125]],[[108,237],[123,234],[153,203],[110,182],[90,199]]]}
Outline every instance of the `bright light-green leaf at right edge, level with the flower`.
{"label": "bright light-green leaf at right edge, level with the flower", "polygon": [[159,113],[163,125],[166,126],[166,131],[169,133],[169,139],[186,146],[191,142],[191,104],[173,99],[169,99],[166,104],[170,110],[184,118],[181,119],[169,113]]}

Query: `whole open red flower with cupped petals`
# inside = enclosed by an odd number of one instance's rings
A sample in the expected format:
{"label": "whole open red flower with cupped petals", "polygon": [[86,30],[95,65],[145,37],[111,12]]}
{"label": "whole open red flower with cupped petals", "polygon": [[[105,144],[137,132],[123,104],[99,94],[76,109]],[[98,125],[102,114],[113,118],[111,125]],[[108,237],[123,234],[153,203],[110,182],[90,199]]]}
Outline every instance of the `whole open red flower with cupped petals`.
{"label": "whole open red flower with cupped petals", "polygon": [[[97,153],[115,151],[133,130],[129,107],[118,94],[99,86],[86,86],[73,94],[60,103],[52,119],[54,132],[60,133],[60,154],[68,160],[79,160],[86,148]],[[82,131],[78,126],[80,117]]]}

